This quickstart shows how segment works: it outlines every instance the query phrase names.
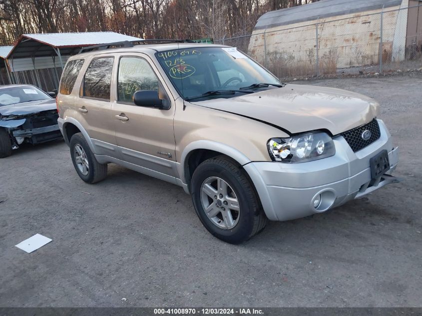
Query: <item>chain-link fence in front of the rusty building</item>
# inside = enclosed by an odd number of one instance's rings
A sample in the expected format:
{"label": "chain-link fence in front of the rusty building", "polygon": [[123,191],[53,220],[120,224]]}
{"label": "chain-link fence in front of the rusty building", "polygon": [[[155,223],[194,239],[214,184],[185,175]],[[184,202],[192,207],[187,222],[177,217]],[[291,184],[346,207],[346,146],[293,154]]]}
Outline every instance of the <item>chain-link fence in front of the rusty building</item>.
{"label": "chain-link fence in front of the rusty building", "polygon": [[248,53],[280,78],[420,68],[422,3],[266,28],[215,42]]}

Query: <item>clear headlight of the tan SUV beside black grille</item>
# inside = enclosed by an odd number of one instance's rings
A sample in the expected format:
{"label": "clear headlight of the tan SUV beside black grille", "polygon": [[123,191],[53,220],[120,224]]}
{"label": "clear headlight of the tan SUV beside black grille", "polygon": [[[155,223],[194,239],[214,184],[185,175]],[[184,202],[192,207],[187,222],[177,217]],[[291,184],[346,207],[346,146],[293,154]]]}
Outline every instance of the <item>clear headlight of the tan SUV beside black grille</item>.
{"label": "clear headlight of the tan SUV beside black grille", "polygon": [[287,163],[318,160],[336,153],[333,140],[323,132],[306,133],[291,138],[271,138],[267,147],[272,160]]}

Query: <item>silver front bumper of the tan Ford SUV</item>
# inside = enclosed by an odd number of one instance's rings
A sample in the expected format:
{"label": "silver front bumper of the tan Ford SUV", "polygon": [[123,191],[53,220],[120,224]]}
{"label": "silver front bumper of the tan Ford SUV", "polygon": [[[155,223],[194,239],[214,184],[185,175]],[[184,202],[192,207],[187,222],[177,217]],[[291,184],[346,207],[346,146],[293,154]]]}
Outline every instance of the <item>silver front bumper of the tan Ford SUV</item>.
{"label": "silver front bumper of the tan Ford SUV", "polygon": [[[332,157],[298,164],[251,162],[244,166],[270,220],[287,221],[322,213],[355,198],[360,198],[386,184],[397,182],[384,174],[379,182],[371,182],[370,159],[386,149],[390,170],[399,162],[399,149],[393,148],[391,135],[384,122],[378,120],[381,137],[354,153],[343,136],[333,138],[336,154]],[[321,194],[321,203],[314,199]]]}

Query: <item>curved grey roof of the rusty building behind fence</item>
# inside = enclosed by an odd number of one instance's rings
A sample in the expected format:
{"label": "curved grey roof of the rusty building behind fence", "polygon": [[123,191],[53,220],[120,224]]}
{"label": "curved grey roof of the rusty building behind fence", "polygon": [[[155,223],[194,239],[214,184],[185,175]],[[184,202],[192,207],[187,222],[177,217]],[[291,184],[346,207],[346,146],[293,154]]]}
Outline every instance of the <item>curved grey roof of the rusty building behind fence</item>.
{"label": "curved grey roof of the rusty building behind fence", "polygon": [[267,12],[258,19],[255,29],[289,25],[319,18],[363,12],[401,5],[402,0],[321,0]]}

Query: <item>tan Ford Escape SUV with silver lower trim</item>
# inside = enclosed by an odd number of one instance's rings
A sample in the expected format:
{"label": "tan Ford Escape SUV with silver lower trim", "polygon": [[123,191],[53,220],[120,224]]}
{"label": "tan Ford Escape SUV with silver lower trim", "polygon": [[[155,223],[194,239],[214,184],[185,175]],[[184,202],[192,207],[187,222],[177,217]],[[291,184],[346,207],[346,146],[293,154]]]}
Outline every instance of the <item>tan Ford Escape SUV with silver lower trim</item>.
{"label": "tan Ford Escape SUV with silver lower trim", "polygon": [[229,243],[396,182],[379,104],[283,84],[235,47],[103,45],[67,61],[58,124],[79,177],[116,163],[183,187]]}

